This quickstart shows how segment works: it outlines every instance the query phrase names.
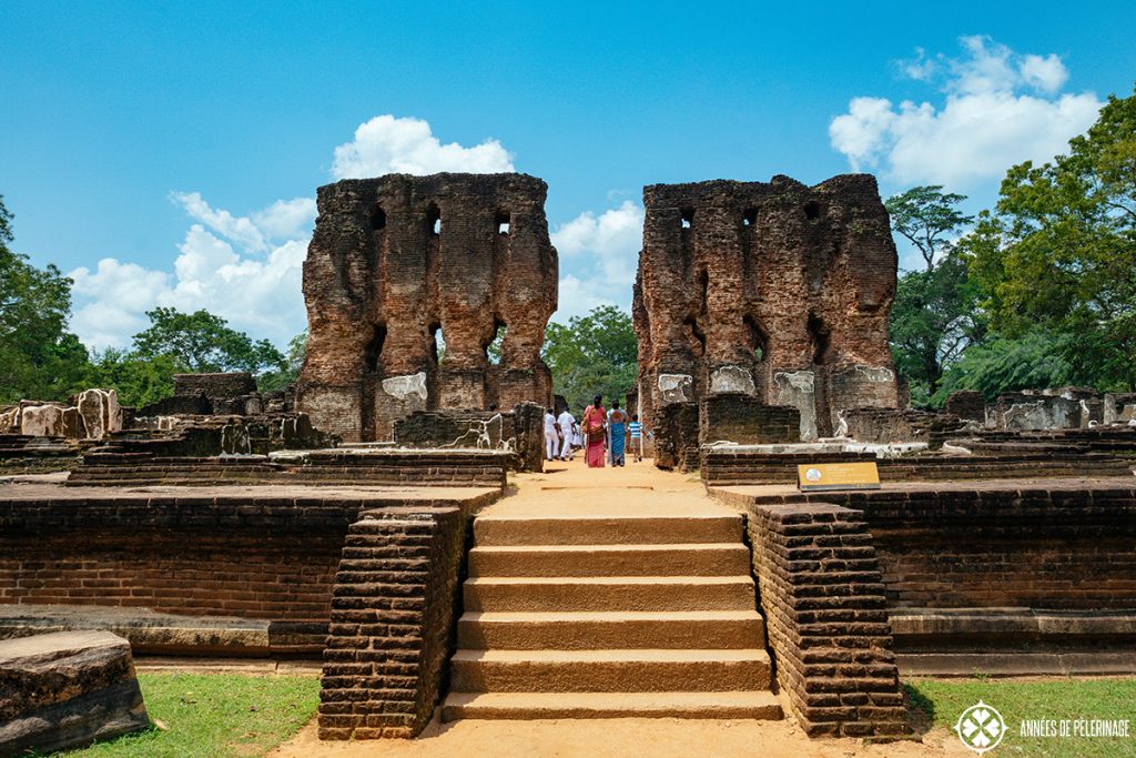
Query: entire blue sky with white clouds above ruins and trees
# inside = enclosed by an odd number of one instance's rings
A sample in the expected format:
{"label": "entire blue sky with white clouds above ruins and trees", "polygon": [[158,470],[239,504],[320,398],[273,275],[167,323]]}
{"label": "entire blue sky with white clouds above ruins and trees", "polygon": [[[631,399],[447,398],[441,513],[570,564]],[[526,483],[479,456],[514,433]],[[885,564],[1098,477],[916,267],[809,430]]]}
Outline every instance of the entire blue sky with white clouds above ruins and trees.
{"label": "entire blue sky with white clouds above ruins and trees", "polygon": [[1130,3],[863,5],[3,0],[0,194],[87,344],[154,305],[284,343],[317,186],[512,167],[562,319],[629,302],[644,184],[858,168],[977,210],[1136,80]]}

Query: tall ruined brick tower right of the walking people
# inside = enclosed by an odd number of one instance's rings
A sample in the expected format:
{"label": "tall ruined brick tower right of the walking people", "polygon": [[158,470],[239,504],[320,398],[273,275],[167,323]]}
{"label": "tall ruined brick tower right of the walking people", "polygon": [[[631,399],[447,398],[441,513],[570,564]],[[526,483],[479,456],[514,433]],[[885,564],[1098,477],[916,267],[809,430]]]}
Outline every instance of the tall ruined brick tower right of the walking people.
{"label": "tall ruined brick tower right of the walking people", "polygon": [[896,407],[887,317],[896,252],[876,180],[655,184],[633,316],[641,407],[743,392],[801,411],[804,440],[842,409]]}

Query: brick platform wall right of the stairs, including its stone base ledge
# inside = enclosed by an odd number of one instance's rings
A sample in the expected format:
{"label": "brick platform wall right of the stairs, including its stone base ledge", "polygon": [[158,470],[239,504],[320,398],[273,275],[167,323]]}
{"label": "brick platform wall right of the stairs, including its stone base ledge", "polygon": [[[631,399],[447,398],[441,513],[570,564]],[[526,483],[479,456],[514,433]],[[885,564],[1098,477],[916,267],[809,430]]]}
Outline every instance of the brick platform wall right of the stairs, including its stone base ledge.
{"label": "brick platform wall right of the stairs, including its stone base ledge", "polygon": [[[868,492],[713,494],[752,509],[862,513],[896,649],[1136,643],[1136,483],[1053,480]],[[754,540],[755,552],[760,551]]]}

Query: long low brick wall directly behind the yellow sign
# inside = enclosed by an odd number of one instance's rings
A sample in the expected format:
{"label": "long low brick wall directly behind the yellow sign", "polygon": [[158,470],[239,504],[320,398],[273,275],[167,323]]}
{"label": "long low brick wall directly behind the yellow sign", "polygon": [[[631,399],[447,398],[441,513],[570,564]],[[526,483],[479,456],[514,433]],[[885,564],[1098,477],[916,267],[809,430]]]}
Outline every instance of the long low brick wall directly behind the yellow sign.
{"label": "long low brick wall directly behind the yellow sign", "polygon": [[1131,476],[1133,461],[1105,455],[1061,452],[879,458],[867,452],[767,453],[709,448],[702,455],[707,486],[795,484],[801,464],[875,461],[882,482]]}

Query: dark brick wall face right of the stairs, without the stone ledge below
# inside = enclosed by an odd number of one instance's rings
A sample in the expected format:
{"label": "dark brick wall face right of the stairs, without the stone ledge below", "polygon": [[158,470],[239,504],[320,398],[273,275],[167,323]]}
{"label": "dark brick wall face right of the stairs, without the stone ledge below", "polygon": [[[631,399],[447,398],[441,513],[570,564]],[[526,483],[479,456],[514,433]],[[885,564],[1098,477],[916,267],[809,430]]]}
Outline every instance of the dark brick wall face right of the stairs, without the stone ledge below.
{"label": "dark brick wall face right of the stairs, without the stone ledge below", "polygon": [[[725,495],[744,507],[753,497]],[[762,497],[863,514],[892,608],[1136,608],[1136,485],[941,484]]]}

